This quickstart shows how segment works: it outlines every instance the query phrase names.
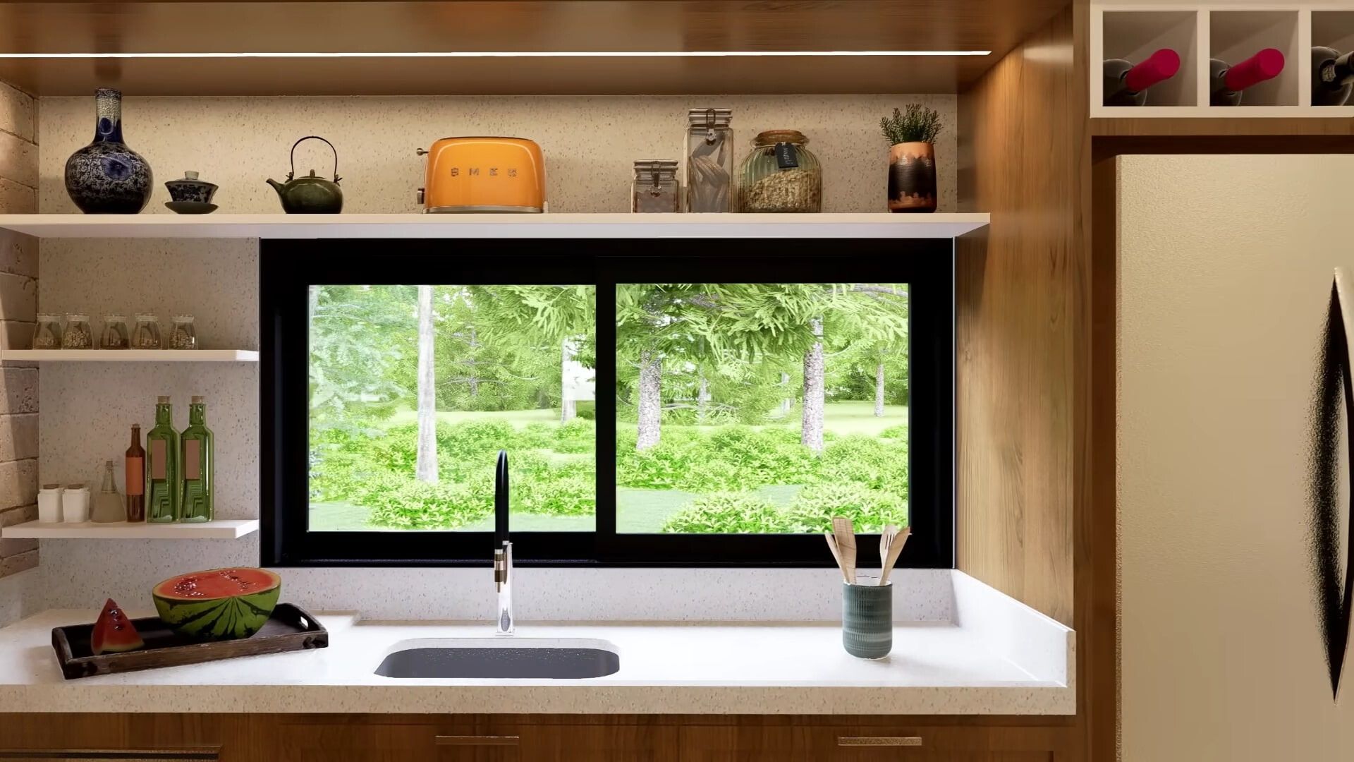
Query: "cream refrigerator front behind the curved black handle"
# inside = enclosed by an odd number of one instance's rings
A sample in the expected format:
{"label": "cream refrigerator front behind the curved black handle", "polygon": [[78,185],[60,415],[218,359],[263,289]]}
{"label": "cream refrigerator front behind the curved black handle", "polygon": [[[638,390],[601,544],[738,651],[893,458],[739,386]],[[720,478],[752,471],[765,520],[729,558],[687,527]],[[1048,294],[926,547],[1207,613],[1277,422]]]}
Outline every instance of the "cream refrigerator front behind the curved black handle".
{"label": "cream refrigerator front behind the curved black handle", "polygon": [[1354,658],[1335,702],[1305,534],[1354,156],[1120,161],[1122,759],[1354,759]]}

